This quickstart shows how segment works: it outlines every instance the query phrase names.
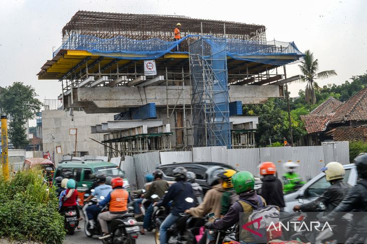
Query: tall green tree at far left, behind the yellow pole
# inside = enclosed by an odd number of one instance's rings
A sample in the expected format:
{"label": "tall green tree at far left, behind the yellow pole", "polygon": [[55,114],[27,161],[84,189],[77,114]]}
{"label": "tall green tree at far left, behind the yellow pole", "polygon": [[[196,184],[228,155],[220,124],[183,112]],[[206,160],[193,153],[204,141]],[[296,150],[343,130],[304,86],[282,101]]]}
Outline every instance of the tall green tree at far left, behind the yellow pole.
{"label": "tall green tree at far left, behind the yellow pole", "polygon": [[32,86],[22,82],[14,82],[2,90],[0,107],[9,116],[9,139],[16,149],[28,145],[25,123],[35,118],[42,103],[36,98],[37,94]]}

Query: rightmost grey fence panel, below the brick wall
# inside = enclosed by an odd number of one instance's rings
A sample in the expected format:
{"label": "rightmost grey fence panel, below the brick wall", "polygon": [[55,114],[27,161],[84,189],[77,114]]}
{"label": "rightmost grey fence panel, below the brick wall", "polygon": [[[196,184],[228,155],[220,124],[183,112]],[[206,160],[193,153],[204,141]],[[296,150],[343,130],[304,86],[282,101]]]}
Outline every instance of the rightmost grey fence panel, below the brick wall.
{"label": "rightmost grey fence panel, below the brick wall", "polygon": [[349,163],[348,141],[322,142],[321,146],[325,155],[325,164],[329,162]]}

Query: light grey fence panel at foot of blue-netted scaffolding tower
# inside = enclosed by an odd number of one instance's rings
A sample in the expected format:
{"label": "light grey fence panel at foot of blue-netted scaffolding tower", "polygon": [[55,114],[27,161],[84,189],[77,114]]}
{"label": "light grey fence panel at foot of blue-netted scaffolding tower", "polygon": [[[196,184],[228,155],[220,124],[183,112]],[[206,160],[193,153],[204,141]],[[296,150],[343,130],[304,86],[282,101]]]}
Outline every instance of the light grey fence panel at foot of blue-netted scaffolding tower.
{"label": "light grey fence panel at foot of blue-netted scaffolding tower", "polygon": [[193,161],[194,162],[227,162],[227,147],[194,147],[193,148]]}

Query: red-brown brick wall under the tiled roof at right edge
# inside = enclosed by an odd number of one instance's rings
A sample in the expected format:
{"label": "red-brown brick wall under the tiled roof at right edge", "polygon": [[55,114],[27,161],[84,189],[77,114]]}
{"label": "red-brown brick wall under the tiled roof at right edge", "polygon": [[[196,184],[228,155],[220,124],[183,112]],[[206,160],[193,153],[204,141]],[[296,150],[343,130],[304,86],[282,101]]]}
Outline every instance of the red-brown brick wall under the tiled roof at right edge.
{"label": "red-brown brick wall under the tiled roof at right edge", "polygon": [[366,141],[367,127],[337,127],[333,133],[334,141]]}

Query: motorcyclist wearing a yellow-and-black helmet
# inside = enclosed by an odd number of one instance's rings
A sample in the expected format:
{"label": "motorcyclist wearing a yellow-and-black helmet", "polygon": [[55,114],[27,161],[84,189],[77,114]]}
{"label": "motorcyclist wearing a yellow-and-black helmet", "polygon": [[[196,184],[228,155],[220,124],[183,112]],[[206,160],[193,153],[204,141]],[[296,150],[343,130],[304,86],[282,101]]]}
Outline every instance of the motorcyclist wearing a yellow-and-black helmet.
{"label": "motorcyclist wearing a yellow-and-black helmet", "polygon": [[224,192],[221,199],[221,215],[226,215],[229,210],[229,207],[232,206],[233,203],[239,200],[239,196],[233,189],[232,184],[232,176],[237,173],[236,170],[226,169],[222,170],[218,176],[222,181],[222,187],[224,188]]}

